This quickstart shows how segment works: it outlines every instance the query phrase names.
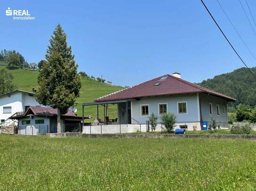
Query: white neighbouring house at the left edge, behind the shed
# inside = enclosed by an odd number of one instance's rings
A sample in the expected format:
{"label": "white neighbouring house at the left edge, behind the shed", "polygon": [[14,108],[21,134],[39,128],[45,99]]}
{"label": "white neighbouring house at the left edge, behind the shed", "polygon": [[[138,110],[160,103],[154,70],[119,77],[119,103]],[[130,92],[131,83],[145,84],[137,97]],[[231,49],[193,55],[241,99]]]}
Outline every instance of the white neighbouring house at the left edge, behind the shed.
{"label": "white neighbouring house at the left edge, behind the shed", "polygon": [[0,123],[14,123],[9,117],[17,112],[25,112],[30,106],[41,107],[34,92],[15,90],[0,95]]}

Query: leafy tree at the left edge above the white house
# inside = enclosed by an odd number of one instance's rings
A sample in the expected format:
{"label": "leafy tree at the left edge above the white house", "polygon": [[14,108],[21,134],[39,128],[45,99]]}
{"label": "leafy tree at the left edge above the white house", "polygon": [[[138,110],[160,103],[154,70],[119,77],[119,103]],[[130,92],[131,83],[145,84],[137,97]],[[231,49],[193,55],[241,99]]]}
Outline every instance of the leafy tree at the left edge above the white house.
{"label": "leafy tree at the left edge above the white house", "polygon": [[0,69],[0,95],[14,91],[13,76],[6,69]]}

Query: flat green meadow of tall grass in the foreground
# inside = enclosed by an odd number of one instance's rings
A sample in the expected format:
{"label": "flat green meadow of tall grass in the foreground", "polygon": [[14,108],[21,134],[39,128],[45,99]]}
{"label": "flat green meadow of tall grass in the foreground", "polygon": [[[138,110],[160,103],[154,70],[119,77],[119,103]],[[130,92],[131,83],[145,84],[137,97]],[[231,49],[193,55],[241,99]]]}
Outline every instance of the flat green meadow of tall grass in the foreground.
{"label": "flat green meadow of tall grass in the foreground", "polygon": [[255,190],[243,139],[0,135],[0,190]]}

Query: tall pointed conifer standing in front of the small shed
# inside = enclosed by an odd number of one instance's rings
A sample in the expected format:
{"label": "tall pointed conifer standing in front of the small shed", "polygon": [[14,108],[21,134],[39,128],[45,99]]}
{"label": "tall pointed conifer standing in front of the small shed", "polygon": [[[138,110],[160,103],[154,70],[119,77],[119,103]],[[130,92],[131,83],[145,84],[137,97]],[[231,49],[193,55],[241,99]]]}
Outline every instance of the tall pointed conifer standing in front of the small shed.
{"label": "tall pointed conifer standing in front of the small shed", "polygon": [[38,75],[36,99],[42,105],[58,109],[57,130],[61,132],[60,116],[66,114],[79,97],[81,77],[77,74],[71,46],[67,46],[66,33],[58,24],[46,51],[46,62]]}

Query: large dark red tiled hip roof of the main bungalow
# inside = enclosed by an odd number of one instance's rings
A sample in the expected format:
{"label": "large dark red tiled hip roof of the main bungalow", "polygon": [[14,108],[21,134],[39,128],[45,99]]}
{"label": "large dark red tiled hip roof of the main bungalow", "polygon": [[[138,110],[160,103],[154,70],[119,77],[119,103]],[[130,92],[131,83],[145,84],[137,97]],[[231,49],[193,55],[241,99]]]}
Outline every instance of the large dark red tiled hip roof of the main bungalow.
{"label": "large dark red tiled hip roof of the main bungalow", "polygon": [[[165,78],[165,76],[167,76],[166,79],[161,80],[161,78]],[[141,84],[137,84],[132,87],[126,88],[124,90],[120,90],[118,92],[105,95],[103,97],[95,99],[94,101],[100,102],[158,95],[174,95],[199,92],[209,93],[218,97],[228,99],[229,101],[236,101],[236,99],[231,98],[230,96],[190,83],[188,81],[172,76],[170,74],[159,76],[149,81],[143,82]]]}

